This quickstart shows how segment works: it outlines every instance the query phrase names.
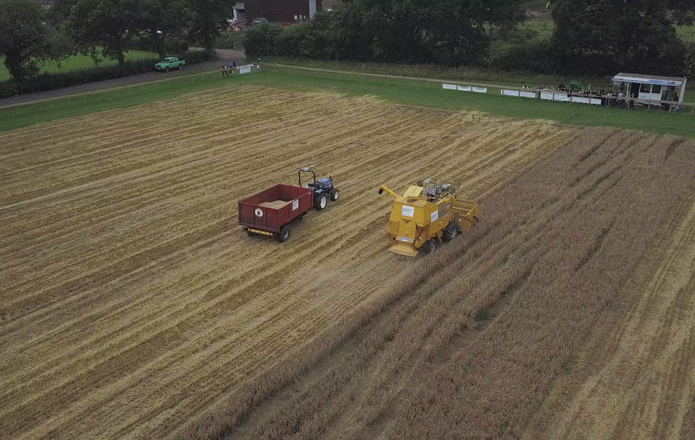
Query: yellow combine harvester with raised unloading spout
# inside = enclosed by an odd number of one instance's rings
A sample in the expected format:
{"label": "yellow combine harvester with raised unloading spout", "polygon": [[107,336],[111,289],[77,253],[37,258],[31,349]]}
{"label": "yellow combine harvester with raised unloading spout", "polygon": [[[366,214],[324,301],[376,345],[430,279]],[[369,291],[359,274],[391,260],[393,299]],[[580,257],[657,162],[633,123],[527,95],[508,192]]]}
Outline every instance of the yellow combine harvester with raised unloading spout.
{"label": "yellow combine harvester with raised unloading spout", "polygon": [[419,250],[434,252],[440,243],[453,240],[459,232],[470,231],[478,215],[478,204],[456,200],[456,188],[429,180],[419,181],[399,196],[381,185],[395,198],[388,223],[388,236],[394,242],[389,251],[414,257]]}

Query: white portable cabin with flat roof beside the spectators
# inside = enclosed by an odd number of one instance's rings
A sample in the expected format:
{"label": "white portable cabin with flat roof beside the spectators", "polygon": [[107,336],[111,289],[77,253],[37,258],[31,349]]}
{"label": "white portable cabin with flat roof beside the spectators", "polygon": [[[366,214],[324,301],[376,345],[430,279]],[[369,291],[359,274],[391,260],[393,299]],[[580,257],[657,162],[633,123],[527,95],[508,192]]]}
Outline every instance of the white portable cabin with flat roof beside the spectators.
{"label": "white portable cabin with flat roof beside the spectators", "polygon": [[[629,97],[634,93],[637,99],[683,102],[687,81],[687,78],[670,76],[618,73],[613,77],[613,89],[619,90],[622,87],[625,91],[625,96]],[[670,92],[675,94],[670,97],[668,96],[672,94]],[[677,99],[675,99],[676,97]]]}

